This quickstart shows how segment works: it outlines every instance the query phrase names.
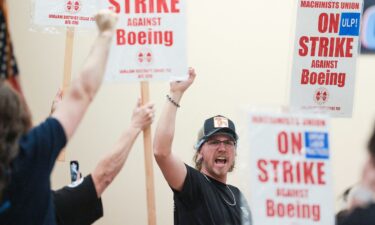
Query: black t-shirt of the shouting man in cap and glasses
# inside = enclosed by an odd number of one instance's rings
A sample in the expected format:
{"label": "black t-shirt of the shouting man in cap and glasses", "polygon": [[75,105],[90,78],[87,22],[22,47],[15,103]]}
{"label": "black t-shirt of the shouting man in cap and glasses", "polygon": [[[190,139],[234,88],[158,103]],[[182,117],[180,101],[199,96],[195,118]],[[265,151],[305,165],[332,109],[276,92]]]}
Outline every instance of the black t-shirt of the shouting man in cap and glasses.
{"label": "black t-shirt of the shouting man in cap and glasses", "polygon": [[174,190],[175,225],[250,225],[251,212],[241,191],[186,165],[180,192]]}

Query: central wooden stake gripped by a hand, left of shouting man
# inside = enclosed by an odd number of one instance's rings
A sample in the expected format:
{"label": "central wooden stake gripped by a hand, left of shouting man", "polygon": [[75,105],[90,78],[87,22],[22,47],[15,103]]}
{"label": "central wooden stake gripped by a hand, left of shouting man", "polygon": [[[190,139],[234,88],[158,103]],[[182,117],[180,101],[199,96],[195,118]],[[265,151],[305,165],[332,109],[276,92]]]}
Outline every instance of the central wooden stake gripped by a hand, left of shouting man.
{"label": "central wooden stake gripped by a hand, left of shouting man", "polygon": [[[149,85],[147,81],[141,82],[141,100],[142,105],[149,102]],[[147,192],[147,215],[148,225],[156,225],[156,209],[155,209],[155,189],[154,189],[154,173],[153,173],[153,153],[151,126],[143,131],[143,145],[145,154],[145,171],[146,171],[146,192]]]}

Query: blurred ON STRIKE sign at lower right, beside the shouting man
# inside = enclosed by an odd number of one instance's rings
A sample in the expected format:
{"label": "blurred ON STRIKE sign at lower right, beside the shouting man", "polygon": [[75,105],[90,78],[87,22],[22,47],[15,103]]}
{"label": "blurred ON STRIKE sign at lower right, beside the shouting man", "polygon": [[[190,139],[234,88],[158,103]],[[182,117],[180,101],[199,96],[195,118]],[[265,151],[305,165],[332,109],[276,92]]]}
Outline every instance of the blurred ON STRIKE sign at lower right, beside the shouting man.
{"label": "blurred ON STRIKE sign at lower right, beside the shouting man", "polygon": [[334,225],[328,120],[248,114],[251,209],[257,225]]}

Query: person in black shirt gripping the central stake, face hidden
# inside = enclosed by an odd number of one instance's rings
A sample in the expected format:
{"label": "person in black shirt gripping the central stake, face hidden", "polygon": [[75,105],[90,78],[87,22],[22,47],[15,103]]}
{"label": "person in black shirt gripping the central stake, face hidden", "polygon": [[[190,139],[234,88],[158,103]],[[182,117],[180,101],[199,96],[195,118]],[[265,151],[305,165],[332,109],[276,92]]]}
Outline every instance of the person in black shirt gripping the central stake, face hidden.
{"label": "person in black shirt gripping the central stake, face hidden", "polygon": [[[52,113],[61,100],[62,93],[59,91],[52,104]],[[153,104],[142,106],[138,100],[130,126],[112,152],[99,161],[91,174],[52,192],[58,225],[90,225],[103,216],[101,195],[121,171],[136,138],[152,123],[154,113]]]}

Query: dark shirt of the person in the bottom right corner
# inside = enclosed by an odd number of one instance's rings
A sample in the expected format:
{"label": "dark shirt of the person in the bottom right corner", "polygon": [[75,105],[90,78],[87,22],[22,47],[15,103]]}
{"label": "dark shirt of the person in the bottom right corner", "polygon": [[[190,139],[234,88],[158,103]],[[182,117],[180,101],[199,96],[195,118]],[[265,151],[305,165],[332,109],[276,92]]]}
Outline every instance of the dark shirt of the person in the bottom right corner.
{"label": "dark shirt of the person in the bottom right corner", "polygon": [[352,212],[343,216],[337,225],[374,225],[375,224],[375,204],[370,204],[366,208],[356,208]]}

